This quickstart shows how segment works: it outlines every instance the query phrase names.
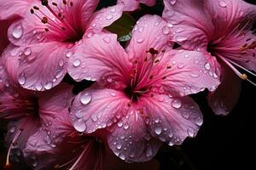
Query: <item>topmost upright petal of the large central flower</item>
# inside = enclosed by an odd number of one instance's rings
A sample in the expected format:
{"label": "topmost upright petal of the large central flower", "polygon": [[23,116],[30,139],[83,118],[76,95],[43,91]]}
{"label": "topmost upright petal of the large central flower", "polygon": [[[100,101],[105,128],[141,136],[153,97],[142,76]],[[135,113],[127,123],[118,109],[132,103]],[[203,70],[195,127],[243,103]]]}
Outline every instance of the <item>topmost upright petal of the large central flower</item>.
{"label": "topmost upright petal of the large central flower", "polygon": [[143,56],[149,48],[158,51],[165,49],[171,33],[171,28],[160,16],[145,15],[134,26],[131,42],[126,50],[131,58],[144,59]]}

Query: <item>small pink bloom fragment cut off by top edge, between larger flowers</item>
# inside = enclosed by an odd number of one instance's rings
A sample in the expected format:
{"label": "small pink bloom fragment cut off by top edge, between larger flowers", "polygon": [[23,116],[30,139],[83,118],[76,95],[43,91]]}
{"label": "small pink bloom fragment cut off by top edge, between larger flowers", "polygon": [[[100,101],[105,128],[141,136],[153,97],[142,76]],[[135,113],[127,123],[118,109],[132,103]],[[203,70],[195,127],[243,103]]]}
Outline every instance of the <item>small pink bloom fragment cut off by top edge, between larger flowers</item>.
{"label": "small pink bloom fragment cut off by top edge, between larger flowers", "polygon": [[155,4],[155,0],[118,0],[118,3],[125,3],[124,11],[133,11],[139,8],[140,3],[152,7]]}

